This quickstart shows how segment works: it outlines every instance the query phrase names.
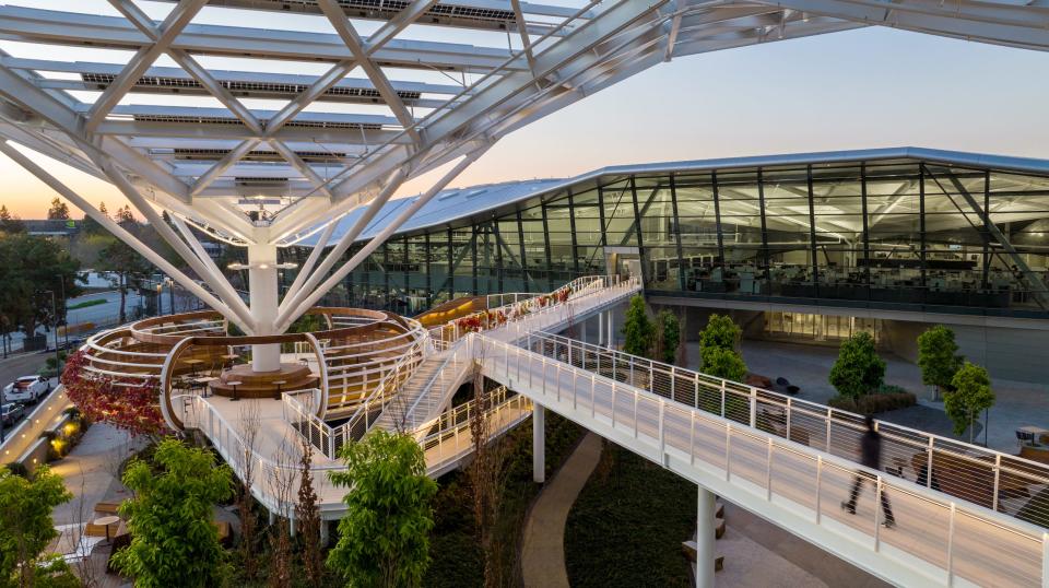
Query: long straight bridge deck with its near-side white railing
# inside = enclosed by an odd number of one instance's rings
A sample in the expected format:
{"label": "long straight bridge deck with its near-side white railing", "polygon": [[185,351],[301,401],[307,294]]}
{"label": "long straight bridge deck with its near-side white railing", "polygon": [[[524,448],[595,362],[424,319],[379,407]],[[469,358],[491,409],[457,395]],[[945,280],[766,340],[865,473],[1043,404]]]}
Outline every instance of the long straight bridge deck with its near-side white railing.
{"label": "long straight bridge deck with its near-side white railing", "polygon": [[[680,379],[673,385],[671,398],[665,390],[673,379],[661,381],[667,376],[660,376],[647,361],[632,364],[627,358],[624,365],[621,362],[626,357],[616,355],[615,367],[605,372],[598,361],[612,360],[613,354],[585,345],[578,356],[573,351],[569,363],[568,350],[580,348],[564,338],[537,334],[518,346],[475,337],[486,350],[486,376],[527,390],[533,399],[545,399],[544,403],[571,413],[588,428],[612,435],[616,443],[671,469],[707,472],[723,480],[739,489],[734,499],[746,501],[751,507],[780,508],[850,545],[872,550],[917,571],[930,583],[1049,583],[1049,533],[1045,529],[898,475],[863,468],[818,444],[806,447],[787,440],[782,433],[765,431],[756,422],[757,389],[736,396],[729,390],[729,383],[723,383],[707,395],[720,401],[714,407],[717,411],[708,412],[710,405],[704,405],[708,400],[697,393],[705,389],[697,386],[703,380],[698,376],[681,379],[674,371],[671,377]],[[630,377],[634,379],[628,380]],[[683,389],[684,381],[689,384],[688,393]],[[664,393],[641,389],[641,385]],[[733,399],[739,399],[738,410],[732,410]],[[724,416],[723,408],[729,409]],[[742,421],[742,415],[747,421]],[[835,438],[834,430],[839,424],[832,419],[830,426]],[[852,452],[851,447],[839,450]],[[867,489],[856,514],[848,514],[839,504],[850,495],[857,477],[865,480]],[[882,496],[892,504],[896,524],[892,529],[883,528],[884,515],[876,507]]]}

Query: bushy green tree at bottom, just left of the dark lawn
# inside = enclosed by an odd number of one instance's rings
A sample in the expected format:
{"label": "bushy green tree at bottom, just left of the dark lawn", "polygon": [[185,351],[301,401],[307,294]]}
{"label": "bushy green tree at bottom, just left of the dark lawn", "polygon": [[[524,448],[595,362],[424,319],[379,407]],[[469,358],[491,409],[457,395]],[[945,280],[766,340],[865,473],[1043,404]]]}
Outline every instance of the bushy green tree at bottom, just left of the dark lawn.
{"label": "bushy green tree at bottom, just left of the dark lawn", "polygon": [[350,491],[328,567],[346,586],[419,586],[429,565],[431,501],[437,493],[422,448],[408,435],[377,431],[343,445],[339,457],[346,470],[329,477]]}

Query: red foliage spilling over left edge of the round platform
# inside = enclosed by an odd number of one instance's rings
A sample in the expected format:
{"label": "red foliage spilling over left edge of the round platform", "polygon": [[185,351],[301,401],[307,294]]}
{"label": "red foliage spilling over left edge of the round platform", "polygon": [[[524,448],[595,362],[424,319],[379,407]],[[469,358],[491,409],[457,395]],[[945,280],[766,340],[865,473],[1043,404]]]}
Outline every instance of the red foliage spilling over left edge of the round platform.
{"label": "red foliage spilling over left edge of the round platform", "polygon": [[135,436],[167,433],[155,379],[141,381],[90,373],[84,369],[89,361],[83,351],[70,355],[61,377],[69,400],[87,419],[109,423]]}

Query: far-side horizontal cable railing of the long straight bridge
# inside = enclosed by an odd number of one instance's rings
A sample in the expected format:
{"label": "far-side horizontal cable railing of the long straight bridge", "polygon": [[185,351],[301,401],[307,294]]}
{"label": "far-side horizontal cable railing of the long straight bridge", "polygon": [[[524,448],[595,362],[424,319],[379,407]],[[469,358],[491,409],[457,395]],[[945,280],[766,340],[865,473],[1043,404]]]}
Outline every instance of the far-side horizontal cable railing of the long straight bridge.
{"label": "far-side horizontal cable railing of the long straight bridge", "polygon": [[[771,435],[854,459],[863,416],[724,380],[557,334],[531,333],[521,344],[546,357],[623,381]],[[883,468],[903,478],[1049,528],[1049,466],[885,421]],[[1049,496],[1049,493],[1042,494]]]}

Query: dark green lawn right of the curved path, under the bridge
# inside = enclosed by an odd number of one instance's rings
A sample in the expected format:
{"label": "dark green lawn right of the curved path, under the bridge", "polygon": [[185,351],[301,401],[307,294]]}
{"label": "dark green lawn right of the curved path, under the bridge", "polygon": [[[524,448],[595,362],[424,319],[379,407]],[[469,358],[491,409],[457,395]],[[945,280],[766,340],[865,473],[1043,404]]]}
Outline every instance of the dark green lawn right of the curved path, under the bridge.
{"label": "dark green lawn right of the curved path, under the bridge", "polygon": [[695,484],[606,444],[568,513],[568,581],[573,588],[692,586],[681,543],[695,527]]}

